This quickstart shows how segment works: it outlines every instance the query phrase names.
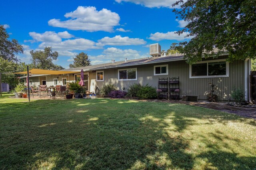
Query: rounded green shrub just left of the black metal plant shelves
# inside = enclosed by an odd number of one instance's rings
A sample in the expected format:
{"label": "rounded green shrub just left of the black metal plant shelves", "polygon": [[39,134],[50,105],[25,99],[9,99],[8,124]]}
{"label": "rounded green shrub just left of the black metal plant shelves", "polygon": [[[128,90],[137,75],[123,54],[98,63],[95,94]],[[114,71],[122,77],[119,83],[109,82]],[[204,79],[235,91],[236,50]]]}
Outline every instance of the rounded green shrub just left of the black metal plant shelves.
{"label": "rounded green shrub just left of the black metal plant shelves", "polygon": [[153,99],[156,98],[157,93],[156,89],[153,88],[152,86],[142,86],[142,88],[138,91],[138,97],[140,99]]}

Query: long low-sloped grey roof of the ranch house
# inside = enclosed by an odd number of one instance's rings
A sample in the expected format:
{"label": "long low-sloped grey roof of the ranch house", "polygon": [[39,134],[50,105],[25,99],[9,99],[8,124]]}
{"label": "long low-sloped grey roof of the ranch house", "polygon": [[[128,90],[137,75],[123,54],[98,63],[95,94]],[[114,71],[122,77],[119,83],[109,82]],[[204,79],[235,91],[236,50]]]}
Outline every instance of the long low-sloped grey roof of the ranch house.
{"label": "long low-sloped grey roof of the ranch house", "polygon": [[166,56],[166,57],[148,57],[142,59],[133,59],[128,61],[117,61],[115,63],[105,63],[105,64],[96,64],[91,66],[84,66],[84,67],[76,67],[76,68],[69,68],[64,69],[63,71],[80,71],[83,69],[84,71],[89,70],[100,70],[106,68],[118,68],[118,67],[125,67],[125,66],[135,66],[135,65],[143,65],[143,64],[152,64],[152,63],[163,63],[168,61],[179,61],[183,60],[184,55],[179,56]]}

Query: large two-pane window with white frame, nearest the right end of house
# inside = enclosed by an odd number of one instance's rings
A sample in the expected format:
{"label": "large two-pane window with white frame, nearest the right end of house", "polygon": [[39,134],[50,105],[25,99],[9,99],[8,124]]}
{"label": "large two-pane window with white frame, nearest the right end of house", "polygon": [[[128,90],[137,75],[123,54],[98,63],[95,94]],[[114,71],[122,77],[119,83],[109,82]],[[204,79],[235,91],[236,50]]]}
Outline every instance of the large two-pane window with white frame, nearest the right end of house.
{"label": "large two-pane window with white frame, nearest the right end of house", "polygon": [[228,74],[228,62],[225,59],[190,65],[190,78],[228,77]]}

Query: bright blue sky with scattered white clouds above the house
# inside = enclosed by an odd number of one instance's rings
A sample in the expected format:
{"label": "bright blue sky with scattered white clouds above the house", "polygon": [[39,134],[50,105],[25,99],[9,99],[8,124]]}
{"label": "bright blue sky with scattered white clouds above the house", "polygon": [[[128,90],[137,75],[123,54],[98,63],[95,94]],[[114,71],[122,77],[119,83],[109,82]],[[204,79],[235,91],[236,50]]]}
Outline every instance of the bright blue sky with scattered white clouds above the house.
{"label": "bright blue sky with scattered white clouds above the house", "polygon": [[188,40],[186,33],[174,34],[186,25],[172,12],[175,1],[8,0],[1,2],[0,24],[24,46],[18,58],[25,63],[31,63],[32,49],[46,46],[58,51],[54,63],[65,68],[82,51],[92,64],[109,63],[148,57],[152,43],[167,50]]}

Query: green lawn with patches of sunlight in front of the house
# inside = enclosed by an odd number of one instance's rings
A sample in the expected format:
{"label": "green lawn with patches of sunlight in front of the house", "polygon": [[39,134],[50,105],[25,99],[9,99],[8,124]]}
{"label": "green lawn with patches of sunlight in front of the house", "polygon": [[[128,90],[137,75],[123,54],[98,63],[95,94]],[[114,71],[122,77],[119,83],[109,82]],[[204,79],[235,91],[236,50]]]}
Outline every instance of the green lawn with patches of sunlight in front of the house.
{"label": "green lawn with patches of sunlight in front of the house", "polygon": [[255,169],[256,121],[134,100],[0,98],[0,169]]}

